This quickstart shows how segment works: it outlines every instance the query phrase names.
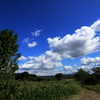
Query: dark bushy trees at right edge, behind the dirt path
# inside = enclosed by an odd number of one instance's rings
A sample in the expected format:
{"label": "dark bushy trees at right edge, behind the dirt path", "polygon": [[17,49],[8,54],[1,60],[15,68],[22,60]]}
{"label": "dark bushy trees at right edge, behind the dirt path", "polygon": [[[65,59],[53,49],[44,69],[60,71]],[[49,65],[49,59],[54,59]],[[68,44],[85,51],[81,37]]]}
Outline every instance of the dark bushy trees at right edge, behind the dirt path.
{"label": "dark bushy trees at right edge, behind the dirt path", "polygon": [[89,73],[83,69],[79,69],[75,73],[75,79],[85,85],[96,85],[100,83],[100,67],[91,69],[92,73]]}

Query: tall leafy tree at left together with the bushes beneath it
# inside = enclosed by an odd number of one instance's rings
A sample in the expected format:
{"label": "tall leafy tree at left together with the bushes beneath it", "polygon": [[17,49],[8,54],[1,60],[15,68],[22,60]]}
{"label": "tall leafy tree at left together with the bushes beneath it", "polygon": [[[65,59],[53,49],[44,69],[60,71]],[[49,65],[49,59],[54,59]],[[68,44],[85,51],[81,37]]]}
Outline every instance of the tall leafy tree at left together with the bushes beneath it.
{"label": "tall leafy tree at left together with the bushes beneath it", "polygon": [[13,100],[13,95],[17,94],[18,84],[13,77],[21,56],[17,37],[13,30],[0,31],[0,100]]}

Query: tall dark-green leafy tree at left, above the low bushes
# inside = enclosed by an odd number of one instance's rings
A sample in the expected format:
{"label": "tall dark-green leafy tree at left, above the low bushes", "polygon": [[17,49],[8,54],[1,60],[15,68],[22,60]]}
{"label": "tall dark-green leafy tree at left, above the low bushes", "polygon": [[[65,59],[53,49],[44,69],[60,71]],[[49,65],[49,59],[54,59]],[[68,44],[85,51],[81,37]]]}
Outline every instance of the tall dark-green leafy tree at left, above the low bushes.
{"label": "tall dark-green leafy tree at left, above the low bushes", "polygon": [[18,34],[14,34],[13,30],[0,31],[0,73],[14,73],[18,69]]}

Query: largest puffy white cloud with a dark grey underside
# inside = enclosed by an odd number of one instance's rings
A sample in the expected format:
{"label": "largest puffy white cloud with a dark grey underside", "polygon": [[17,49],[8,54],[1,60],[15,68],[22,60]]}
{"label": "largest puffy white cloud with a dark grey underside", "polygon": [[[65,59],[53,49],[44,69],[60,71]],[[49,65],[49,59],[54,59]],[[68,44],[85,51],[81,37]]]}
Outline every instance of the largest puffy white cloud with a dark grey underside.
{"label": "largest puffy white cloud with a dark grey underside", "polygon": [[48,38],[50,48],[58,53],[61,59],[76,58],[100,51],[99,37],[95,37],[95,31],[91,27],[83,26],[77,29],[73,35],[67,34],[63,38]]}

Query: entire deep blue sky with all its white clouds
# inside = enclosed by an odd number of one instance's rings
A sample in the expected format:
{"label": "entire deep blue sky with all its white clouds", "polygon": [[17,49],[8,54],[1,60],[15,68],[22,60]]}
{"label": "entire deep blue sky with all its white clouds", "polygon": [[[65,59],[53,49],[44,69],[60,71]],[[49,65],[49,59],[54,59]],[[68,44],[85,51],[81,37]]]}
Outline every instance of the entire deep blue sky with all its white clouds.
{"label": "entire deep blue sky with all its white clouds", "polygon": [[100,0],[0,0],[0,31],[7,28],[18,34],[17,73],[100,66]]}

